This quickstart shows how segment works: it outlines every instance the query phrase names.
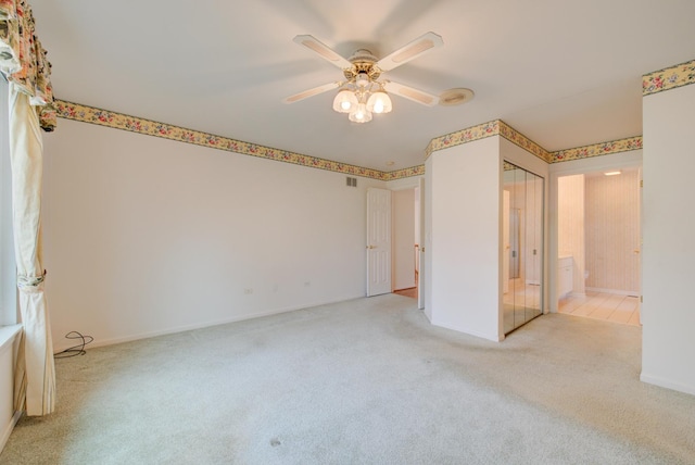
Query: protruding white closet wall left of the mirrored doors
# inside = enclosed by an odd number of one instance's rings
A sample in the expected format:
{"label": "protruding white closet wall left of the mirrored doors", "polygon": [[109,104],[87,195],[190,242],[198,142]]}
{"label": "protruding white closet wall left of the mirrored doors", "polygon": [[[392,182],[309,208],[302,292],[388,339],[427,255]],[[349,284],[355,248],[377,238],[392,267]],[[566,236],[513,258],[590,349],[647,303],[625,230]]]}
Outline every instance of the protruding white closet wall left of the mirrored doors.
{"label": "protruding white closet wall left of the mirrored doors", "polygon": [[426,311],[437,326],[501,334],[500,137],[434,152],[426,167]]}

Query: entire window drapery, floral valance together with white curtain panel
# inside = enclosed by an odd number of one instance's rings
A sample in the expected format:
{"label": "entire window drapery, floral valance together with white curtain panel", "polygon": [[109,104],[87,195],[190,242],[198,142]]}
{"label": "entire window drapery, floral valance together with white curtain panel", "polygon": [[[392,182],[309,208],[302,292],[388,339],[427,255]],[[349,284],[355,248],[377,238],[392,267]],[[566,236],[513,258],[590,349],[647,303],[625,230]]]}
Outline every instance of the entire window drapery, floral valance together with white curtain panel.
{"label": "entire window drapery, floral valance together with white curtain panel", "polygon": [[17,288],[24,331],[15,366],[14,409],[55,407],[53,343],[41,262],[41,131],[55,128],[51,64],[26,0],[0,0],[0,72],[10,83],[10,158]]}

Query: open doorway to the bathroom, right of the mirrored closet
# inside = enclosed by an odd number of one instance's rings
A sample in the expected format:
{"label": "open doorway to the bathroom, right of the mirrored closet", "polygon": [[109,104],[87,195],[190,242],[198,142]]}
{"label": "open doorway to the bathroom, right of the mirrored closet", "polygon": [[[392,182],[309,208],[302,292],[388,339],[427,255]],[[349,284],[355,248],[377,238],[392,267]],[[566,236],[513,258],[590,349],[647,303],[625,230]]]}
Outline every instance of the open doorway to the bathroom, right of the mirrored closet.
{"label": "open doorway to the bathroom, right of the mirrored closet", "polygon": [[558,177],[559,313],[640,325],[641,167]]}

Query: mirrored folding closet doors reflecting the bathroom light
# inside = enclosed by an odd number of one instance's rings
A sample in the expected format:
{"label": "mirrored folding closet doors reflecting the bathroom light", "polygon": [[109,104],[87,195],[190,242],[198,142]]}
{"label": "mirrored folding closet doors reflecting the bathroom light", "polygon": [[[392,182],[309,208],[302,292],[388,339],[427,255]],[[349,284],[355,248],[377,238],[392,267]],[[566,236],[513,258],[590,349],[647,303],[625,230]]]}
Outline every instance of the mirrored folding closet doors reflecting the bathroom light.
{"label": "mirrored folding closet doors reflecting the bathroom light", "polygon": [[503,310],[508,334],[543,313],[543,178],[504,163]]}

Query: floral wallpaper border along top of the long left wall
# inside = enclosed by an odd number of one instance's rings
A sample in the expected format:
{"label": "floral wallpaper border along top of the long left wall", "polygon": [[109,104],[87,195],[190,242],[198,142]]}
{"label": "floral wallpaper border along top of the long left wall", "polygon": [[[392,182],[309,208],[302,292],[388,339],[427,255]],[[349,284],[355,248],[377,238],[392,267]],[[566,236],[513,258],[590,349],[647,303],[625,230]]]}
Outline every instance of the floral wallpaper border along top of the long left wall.
{"label": "floral wallpaper border along top of the long left wall", "polygon": [[258,156],[266,160],[275,160],[278,162],[291,163],[312,168],[343,173],[346,175],[368,177],[378,180],[394,180],[402,177],[418,176],[419,174],[425,173],[424,166],[414,166],[392,173],[365,168],[362,166],[289,152],[287,150],[273,149],[270,147],[260,146],[256,143],[243,142],[241,140],[229,139],[227,137],[215,136],[213,134],[202,133],[199,130],[186,129],[169,124],[157,123],[150,120],[110,112],[63,100],[55,100],[55,110],[58,112],[58,116],[66,120],[91,123],[99,126],[161,137],[179,142],[193,143],[195,146],[210,147],[212,149]]}

